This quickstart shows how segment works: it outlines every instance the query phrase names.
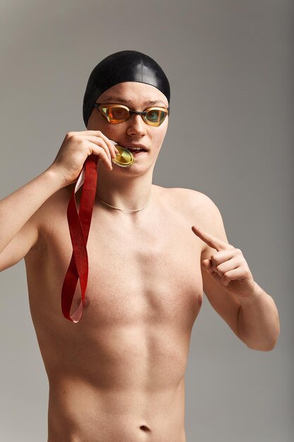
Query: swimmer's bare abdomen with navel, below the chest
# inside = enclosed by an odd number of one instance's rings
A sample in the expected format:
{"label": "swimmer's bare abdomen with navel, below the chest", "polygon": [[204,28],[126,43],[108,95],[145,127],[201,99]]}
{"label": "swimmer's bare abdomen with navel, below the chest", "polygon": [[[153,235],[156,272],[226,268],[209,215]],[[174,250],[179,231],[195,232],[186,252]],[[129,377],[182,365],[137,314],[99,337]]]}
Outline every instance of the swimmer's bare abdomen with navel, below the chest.
{"label": "swimmer's bare abdomen with navel, below the chest", "polygon": [[157,326],[82,336],[47,367],[48,441],[185,442],[183,340]]}

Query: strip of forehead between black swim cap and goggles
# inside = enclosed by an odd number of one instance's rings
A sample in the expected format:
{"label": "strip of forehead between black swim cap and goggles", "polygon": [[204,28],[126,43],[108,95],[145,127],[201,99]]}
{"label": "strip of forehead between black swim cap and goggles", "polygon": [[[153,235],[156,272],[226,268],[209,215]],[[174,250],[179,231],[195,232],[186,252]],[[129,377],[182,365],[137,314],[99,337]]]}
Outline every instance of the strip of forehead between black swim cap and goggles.
{"label": "strip of forehead between black swim cap and goggles", "polygon": [[152,85],[135,81],[125,81],[112,86],[98,97],[97,102],[104,104],[112,102],[117,104],[159,104],[164,107],[169,106],[166,96],[159,89]]}

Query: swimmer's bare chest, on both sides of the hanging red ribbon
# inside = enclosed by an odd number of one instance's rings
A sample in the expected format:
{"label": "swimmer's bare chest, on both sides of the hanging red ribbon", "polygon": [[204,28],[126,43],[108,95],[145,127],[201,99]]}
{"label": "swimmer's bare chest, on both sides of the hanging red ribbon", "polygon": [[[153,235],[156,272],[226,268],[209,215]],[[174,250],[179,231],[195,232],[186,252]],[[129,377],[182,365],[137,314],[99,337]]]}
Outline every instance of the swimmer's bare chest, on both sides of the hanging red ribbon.
{"label": "swimmer's bare chest, on both sides of the hanging red ribbon", "polygon": [[[56,222],[47,249],[38,274],[31,267],[32,291],[34,280],[44,273],[43,287],[45,280],[47,302],[54,311],[60,306],[71,258],[65,219]],[[136,323],[192,327],[202,299],[201,246],[183,217],[154,217],[136,224],[94,215],[87,249],[85,321],[106,327]],[[78,286],[73,309],[79,302]]]}

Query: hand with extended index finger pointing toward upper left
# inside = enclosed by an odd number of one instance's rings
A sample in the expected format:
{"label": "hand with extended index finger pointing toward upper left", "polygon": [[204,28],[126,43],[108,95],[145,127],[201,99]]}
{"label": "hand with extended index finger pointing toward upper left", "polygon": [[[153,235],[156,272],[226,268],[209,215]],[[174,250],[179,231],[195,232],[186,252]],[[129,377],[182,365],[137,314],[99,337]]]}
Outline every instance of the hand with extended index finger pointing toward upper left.
{"label": "hand with extended index finger pointing toward upper left", "polygon": [[242,251],[196,226],[192,226],[192,231],[209,247],[216,249],[210,259],[202,261],[203,268],[236,297],[244,299],[254,296],[257,284]]}

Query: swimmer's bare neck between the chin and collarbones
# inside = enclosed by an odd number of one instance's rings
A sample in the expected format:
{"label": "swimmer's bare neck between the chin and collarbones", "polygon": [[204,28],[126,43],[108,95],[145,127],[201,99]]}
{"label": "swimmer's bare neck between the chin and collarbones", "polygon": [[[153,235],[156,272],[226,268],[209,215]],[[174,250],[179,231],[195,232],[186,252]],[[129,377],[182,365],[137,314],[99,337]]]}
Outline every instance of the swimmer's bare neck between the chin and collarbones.
{"label": "swimmer's bare neck between the chin and collarbones", "polygon": [[142,209],[152,190],[152,171],[138,175],[118,167],[108,171],[98,163],[97,198],[121,210]]}

